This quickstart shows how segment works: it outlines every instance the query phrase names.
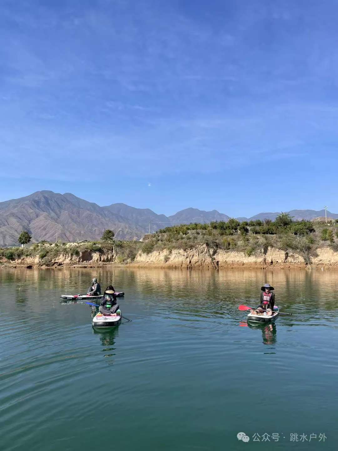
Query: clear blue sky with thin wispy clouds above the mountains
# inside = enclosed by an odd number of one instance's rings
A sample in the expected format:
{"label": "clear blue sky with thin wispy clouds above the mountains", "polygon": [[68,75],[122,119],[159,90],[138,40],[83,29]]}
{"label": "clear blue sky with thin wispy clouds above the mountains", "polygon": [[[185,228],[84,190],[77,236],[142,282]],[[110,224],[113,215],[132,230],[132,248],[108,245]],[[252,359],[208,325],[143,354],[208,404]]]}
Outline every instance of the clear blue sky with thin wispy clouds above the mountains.
{"label": "clear blue sky with thin wispy clouds above the mountains", "polygon": [[338,212],[338,3],[0,3],[0,201]]}

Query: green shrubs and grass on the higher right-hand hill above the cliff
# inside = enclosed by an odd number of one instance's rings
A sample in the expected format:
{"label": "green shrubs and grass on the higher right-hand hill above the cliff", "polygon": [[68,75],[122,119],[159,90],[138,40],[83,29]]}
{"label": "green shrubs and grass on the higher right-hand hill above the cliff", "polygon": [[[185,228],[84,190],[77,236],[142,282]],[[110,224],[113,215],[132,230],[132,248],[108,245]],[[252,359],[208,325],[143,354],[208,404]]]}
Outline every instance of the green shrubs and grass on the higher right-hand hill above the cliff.
{"label": "green shrubs and grass on the higher right-hand hill above the cliff", "polygon": [[213,221],[210,224],[189,224],[166,227],[147,236],[143,252],[163,249],[192,249],[206,244],[212,249],[237,250],[247,256],[266,252],[271,246],[285,252],[295,251],[306,263],[311,262],[320,246],[338,249],[338,230],[335,224],[312,221],[292,221],[288,213],[281,213],[275,221]]}

